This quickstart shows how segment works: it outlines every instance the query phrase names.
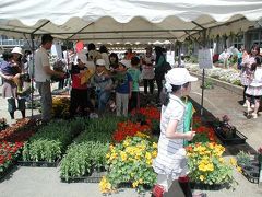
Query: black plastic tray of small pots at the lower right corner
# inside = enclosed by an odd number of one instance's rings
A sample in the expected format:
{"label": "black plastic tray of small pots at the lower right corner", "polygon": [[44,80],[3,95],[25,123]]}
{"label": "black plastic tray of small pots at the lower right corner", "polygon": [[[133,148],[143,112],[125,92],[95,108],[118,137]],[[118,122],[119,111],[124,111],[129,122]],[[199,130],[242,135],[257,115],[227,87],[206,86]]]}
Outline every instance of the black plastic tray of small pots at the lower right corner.
{"label": "black plastic tray of small pots at the lower right corner", "polygon": [[260,164],[258,160],[251,160],[250,165],[240,165],[242,174],[251,183],[259,184],[260,178]]}

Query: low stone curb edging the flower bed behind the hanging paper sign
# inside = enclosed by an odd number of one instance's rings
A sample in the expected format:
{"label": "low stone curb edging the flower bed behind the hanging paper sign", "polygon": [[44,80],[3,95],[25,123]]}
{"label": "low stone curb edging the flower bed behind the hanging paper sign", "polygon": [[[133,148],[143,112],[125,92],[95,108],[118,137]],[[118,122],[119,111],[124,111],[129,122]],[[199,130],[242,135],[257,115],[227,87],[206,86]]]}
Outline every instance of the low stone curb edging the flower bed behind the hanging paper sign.
{"label": "low stone curb edging the flower bed behind the hanging paper sign", "polygon": [[[190,72],[190,73],[192,76],[198,77],[199,80],[202,81],[202,74],[198,74],[195,72]],[[205,76],[205,79],[209,79],[210,81],[212,81],[214,83],[214,85],[217,85],[217,86],[224,88],[226,90],[229,90],[230,92],[234,92],[238,95],[243,94],[243,88],[242,86],[234,85],[231,83],[227,83],[227,82],[224,82],[224,81],[221,81],[221,80],[217,80],[217,79],[214,79],[214,78],[210,78],[210,77],[206,77],[206,76]]]}

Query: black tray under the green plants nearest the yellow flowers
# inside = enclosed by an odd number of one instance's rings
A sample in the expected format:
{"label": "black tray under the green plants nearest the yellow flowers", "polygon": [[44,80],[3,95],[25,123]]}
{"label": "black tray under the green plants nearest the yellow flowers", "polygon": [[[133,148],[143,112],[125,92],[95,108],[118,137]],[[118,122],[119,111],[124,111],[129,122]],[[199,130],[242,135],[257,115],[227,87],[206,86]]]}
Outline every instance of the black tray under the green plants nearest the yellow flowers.
{"label": "black tray under the green plants nearest the yellow flowers", "polygon": [[99,183],[102,181],[102,177],[106,175],[106,172],[91,172],[91,174],[85,176],[79,176],[79,177],[69,177],[67,181],[66,178],[61,178],[61,182],[63,183]]}

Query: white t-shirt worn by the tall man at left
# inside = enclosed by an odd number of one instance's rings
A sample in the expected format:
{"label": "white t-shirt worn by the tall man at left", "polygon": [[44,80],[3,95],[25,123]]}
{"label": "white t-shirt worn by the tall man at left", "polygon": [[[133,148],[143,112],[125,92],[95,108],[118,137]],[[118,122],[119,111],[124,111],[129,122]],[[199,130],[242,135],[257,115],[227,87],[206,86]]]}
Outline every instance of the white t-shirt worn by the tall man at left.
{"label": "white t-shirt worn by the tall man at left", "polygon": [[35,54],[35,81],[46,82],[51,79],[51,76],[47,74],[44,67],[50,66],[47,50],[43,47],[36,50]]}

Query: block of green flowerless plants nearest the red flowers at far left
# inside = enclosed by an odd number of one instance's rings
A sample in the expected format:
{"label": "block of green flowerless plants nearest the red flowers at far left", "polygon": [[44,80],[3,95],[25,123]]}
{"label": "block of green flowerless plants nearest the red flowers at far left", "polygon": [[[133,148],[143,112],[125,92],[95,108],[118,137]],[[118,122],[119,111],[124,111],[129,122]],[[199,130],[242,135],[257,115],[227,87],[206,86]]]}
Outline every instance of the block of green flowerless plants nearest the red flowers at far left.
{"label": "block of green flowerless plants nearest the red flowers at far left", "polygon": [[81,131],[80,119],[73,121],[51,121],[41,127],[25,143],[22,155],[23,161],[55,162],[61,158],[62,152],[72,139]]}

